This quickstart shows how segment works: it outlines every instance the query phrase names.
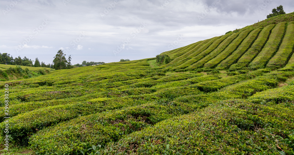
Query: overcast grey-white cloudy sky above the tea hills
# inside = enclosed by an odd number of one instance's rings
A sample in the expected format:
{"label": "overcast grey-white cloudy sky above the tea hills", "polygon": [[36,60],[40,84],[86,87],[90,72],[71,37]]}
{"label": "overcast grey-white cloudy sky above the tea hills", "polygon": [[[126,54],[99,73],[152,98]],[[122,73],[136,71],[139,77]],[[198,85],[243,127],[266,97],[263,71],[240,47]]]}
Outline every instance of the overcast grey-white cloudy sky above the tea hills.
{"label": "overcast grey-white cloudy sky above the tea hills", "polygon": [[[0,0],[0,52],[51,64],[144,59],[262,21],[292,0]],[[67,57],[67,56],[66,56]]]}

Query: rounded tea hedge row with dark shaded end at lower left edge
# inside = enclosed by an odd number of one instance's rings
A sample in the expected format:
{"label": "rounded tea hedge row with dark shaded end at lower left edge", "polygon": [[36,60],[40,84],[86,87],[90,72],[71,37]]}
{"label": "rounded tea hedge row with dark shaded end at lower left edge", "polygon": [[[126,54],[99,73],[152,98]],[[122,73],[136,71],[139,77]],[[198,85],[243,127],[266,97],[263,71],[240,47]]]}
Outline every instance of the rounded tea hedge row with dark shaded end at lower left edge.
{"label": "rounded tea hedge row with dark shaded end at lower left edge", "polygon": [[[10,118],[9,133],[12,142],[26,144],[29,136],[58,122],[142,103],[145,101],[133,98],[97,98],[84,103],[49,106]],[[0,124],[1,127],[4,125],[5,122]],[[4,135],[4,131],[1,134]]]}

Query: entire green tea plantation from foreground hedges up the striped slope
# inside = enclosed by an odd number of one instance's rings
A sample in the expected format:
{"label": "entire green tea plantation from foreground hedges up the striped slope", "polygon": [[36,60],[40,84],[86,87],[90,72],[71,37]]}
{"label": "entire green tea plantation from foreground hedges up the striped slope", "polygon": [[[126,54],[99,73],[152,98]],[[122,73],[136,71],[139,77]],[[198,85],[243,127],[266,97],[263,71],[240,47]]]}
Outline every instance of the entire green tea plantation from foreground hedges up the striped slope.
{"label": "entire green tea plantation from foreground hedges up the striped slope", "polygon": [[293,17],[163,52],[164,65],[0,82],[1,153],[294,154]]}

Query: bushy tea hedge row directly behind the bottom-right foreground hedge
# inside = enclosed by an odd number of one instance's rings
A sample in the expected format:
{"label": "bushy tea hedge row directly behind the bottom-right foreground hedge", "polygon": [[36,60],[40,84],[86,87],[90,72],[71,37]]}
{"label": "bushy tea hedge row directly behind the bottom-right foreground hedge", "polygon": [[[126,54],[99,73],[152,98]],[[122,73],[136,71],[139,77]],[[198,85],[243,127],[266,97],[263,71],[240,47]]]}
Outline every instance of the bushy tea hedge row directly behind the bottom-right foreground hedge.
{"label": "bushy tea hedge row directly behind the bottom-right foreground hedge", "polygon": [[163,102],[97,113],[42,130],[31,137],[30,144],[38,150],[37,154],[81,154],[80,150],[89,153],[94,151],[93,145],[103,148],[108,142],[116,142],[127,134],[197,107],[196,104]]}

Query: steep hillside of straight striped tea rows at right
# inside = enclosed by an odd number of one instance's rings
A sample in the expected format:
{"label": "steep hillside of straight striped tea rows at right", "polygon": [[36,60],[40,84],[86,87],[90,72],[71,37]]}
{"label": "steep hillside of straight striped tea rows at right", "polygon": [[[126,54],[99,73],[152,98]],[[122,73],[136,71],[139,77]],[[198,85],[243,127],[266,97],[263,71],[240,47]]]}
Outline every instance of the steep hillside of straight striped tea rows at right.
{"label": "steep hillside of straight striped tea rows at right", "polygon": [[163,52],[173,60],[161,68],[172,71],[283,68],[293,55],[293,16],[290,13],[267,19],[220,37]]}

